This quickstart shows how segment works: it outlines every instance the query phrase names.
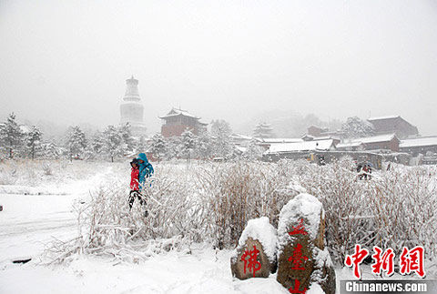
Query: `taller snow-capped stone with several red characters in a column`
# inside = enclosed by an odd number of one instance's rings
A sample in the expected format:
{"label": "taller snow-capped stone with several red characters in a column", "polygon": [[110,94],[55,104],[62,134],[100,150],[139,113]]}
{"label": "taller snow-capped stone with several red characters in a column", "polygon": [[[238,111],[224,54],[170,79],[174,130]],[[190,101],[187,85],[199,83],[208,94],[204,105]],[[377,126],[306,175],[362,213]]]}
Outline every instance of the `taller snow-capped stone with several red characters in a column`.
{"label": "taller snow-capped stone with several red characters in a column", "polygon": [[317,198],[300,194],[280,210],[277,280],[290,293],[319,287],[335,293],[335,271],[324,234],[325,216]]}

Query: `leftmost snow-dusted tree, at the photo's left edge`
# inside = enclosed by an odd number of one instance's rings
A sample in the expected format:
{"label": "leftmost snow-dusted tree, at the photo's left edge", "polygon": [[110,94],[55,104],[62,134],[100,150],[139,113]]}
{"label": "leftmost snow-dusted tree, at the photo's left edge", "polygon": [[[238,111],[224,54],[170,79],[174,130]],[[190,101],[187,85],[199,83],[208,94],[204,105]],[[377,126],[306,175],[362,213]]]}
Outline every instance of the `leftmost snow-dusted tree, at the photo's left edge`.
{"label": "leftmost snow-dusted tree, at the photo's left edge", "polygon": [[24,134],[20,126],[16,123],[15,114],[12,113],[7,117],[5,124],[0,127],[0,142],[5,151],[9,154],[9,158],[14,157],[14,152],[23,147]]}

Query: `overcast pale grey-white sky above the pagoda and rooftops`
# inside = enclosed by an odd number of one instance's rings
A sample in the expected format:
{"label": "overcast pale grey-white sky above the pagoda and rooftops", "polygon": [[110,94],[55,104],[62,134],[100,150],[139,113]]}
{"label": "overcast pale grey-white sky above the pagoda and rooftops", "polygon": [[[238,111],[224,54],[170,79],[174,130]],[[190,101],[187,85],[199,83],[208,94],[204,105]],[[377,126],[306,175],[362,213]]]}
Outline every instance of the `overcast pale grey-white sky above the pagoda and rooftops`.
{"label": "overcast pale grey-white sky above the pagoda and rooftops", "polygon": [[437,135],[437,1],[0,0],[0,118],[117,124],[134,75],[158,130],[182,106],[399,114]]}

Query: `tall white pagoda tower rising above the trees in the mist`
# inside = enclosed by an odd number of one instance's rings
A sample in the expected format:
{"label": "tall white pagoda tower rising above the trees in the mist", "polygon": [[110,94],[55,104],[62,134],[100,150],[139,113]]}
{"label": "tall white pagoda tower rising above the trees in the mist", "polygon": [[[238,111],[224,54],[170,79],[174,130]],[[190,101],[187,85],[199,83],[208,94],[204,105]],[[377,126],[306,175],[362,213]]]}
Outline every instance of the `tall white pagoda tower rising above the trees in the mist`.
{"label": "tall white pagoda tower rising above the trees in the mist", "polygon": [[126,80],[126,93],[120,105],[120,124],[129,123],[133,136],[144,136],[147,127],[143,117],[144,106],[138,92],[138,80],[132,76]]}

